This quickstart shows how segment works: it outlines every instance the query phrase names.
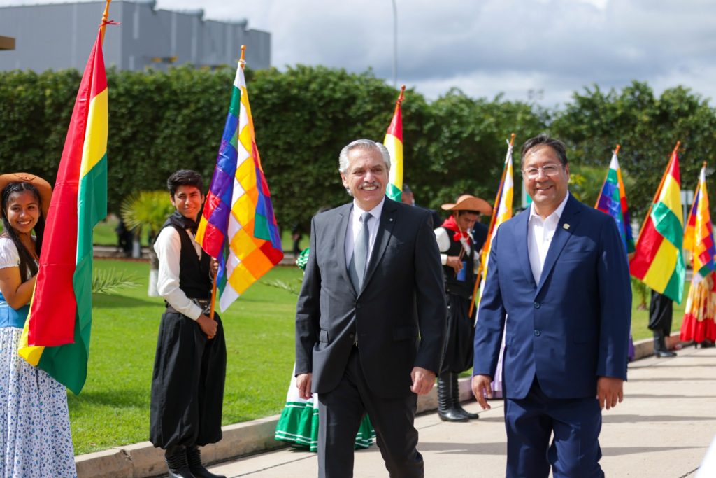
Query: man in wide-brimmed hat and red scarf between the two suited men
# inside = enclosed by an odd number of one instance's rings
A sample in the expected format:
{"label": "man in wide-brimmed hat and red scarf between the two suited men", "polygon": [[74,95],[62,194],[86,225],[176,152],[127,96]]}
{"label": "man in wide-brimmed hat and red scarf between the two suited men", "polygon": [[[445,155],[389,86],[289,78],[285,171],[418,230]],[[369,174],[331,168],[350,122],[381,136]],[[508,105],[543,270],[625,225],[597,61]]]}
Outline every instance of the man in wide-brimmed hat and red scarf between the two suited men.
{"label": "man in wide-brimmed hat and red scarf between the two suited men", "polygon": [[473,365],[475,328],[468,311],[482,244],[479,247],[475,244],[472,231],[480,215],[492,214],[492,208],[487,201],[471,194],[462,194],[455,203],[443,204],[441,208],[452,214],[435,229],[448,298],[448,335],[437,378],[437,414],[444,421],[468,421],[479,417],[460,406],[458,374]]}

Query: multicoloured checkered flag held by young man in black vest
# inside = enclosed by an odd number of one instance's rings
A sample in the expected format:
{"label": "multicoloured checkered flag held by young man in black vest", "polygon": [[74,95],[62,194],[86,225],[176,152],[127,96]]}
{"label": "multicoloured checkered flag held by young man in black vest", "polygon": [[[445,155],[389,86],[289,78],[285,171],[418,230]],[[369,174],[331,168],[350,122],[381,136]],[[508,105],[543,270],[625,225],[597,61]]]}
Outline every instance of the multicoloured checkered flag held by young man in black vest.
{"label": "multicoloured checkered flag held by young man in black vest", "polygon": [[219,261],[216,287],[222,312],[284,258],[269,184],[256,148],[243,59],[233,80],[196,241]]}

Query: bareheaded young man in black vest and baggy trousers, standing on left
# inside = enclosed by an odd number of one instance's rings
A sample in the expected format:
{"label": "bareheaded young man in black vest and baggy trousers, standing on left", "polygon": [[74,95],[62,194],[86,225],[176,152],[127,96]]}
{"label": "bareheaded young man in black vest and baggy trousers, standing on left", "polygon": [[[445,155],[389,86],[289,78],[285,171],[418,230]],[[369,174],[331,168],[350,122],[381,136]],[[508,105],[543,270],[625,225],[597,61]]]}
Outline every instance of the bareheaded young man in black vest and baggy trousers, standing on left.
{"label": "bareheaded young man in black vest and baggy trousers, standing on left", "polygon": [[176,210],[154,244],[166,310],[152,374],[150,441],[165,449],[171,478],[221,478],[203,467],[198,449],[221,440],[226,377],[221,319],[208,317],[215,265],[194,238],[203,182],[195,171],[180,170],[167,187]]}

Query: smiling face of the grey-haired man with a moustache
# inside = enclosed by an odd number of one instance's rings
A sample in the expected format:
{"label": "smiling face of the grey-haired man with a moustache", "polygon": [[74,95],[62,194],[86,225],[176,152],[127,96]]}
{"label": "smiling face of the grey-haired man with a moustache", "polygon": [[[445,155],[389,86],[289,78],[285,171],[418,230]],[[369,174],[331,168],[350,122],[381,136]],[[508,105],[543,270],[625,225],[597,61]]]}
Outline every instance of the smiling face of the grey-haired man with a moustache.
{"label": "smiling face of the grey-haired man with a moustache", "polygon": [[388,184],[388,167],[379,150],[354,148],[348,153],[348,168],[341,173],[343,186],[358,206],[370,211],[380,204]]}

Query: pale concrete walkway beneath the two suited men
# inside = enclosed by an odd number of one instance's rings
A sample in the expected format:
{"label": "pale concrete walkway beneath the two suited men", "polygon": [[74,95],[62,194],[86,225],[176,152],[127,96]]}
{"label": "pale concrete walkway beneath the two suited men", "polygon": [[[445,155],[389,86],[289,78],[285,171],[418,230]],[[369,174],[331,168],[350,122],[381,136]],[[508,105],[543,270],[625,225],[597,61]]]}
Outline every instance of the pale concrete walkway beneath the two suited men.
{"label": "pale concrete walkway beneath the two suited men", "polygon": [[[415,420],[426,477],[503,477],[502,401],[480,419],[446,424],[437,414]],[[645,358],[629,366],[624,402],[604,412],[601,466],[607,477],[695,477],[716,435],[716,349],[679,350],[676,358]],[[316,455],[280,449],[211,467],[228,477],[316,477]],[[376,446],[357,451],[354,474],[387,477]]]}

